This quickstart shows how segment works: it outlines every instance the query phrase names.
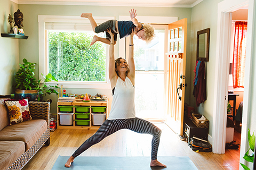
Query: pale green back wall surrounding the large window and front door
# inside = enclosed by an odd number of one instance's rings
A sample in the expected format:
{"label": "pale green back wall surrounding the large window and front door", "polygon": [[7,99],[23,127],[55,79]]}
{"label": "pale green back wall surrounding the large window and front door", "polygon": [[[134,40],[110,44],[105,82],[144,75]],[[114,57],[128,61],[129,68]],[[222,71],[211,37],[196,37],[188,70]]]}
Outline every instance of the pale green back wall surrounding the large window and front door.
{"label": "pale green back wall surrounding the large window and front door", "polygon": [[[129,11],[133,7],[114,7],[114,6],[73,6],[73,5],[19,5],[20,11],[23,13],[23,29],[25,35],[29,38],[19,44],[20,63],[23,58],[27,58],[30,62],[38,63],[38,15],[73,15],[80,16],[84,12],[90,12],[93,16],[115,16],[118,20],[119,15],[130,15]],[[190,20],[191,8],[169,8],[169,7],[136,7],[138,16],[178,16],[178,19],[188,19],[188,39],[190,42]],[[117,46],[118,47],[118,46]],[[121,47],[120,47],[121,48]],[[187,63],[190,63],[190,46],[187,47]],[[115,50],[115,56],[118,56],[118,48]],[[189,66],[189,64],[188,64]],[[187,74],[190,69],[187,68]],[[36,68],[38,75],[38,66]],[[105,94],[111,101],[110,89],[66,89],[68,93],[88,93],[95,95],[97,93]],[[189,91],[186,93],[189,99]],[[46,96],[53,99],[51,104],[51,113],[57,112],[56,101],[58,96]]]}

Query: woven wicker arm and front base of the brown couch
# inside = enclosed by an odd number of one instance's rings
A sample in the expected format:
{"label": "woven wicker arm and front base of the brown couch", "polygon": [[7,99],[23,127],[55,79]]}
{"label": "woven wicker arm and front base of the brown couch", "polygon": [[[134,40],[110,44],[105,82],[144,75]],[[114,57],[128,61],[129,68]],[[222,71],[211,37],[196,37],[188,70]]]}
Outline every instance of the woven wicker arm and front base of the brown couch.
{"label": "woven wicker arm and front base of the brown couch", "polygon": [[24,152],[9,168],[9,169],[22,169],[29,160],[36,154],[36,152],[45,144],[50,145],[50,103],[29,101],[29,111],[33,120],[43,119],[46,120],[48,128],[41,135],[41,137]]}

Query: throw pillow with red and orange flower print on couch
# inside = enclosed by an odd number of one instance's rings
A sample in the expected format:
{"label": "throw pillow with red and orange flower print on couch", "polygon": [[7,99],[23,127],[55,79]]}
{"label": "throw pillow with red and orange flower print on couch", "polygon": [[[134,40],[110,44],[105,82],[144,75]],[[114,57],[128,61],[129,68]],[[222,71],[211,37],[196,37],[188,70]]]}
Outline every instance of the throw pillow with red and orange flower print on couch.
{"label": "throw pillow with red and orange flower print on couch", "polygon": [[10,125],[29,121],[32,119],[29,113],[28,99],[29,98],[23,98],[19,100],[4,100],[4,103],[8,109]]}

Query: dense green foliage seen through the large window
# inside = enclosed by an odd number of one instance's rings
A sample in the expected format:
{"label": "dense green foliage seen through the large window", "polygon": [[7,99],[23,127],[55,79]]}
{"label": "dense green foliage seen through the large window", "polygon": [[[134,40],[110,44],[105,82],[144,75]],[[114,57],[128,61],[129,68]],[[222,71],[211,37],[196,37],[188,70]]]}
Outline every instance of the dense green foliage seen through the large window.
{"label": "dense green foliage seen through the large window", "polygon": [[59,81],[106,81],[106,45],[84,32],[48,34],[49,73]]}

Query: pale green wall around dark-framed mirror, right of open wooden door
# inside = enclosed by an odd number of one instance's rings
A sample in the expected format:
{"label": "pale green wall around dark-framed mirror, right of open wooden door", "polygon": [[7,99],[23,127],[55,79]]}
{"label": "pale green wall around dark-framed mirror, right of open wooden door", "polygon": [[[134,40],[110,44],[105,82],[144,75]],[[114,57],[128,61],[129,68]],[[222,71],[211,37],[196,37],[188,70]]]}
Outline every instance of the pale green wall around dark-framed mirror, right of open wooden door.
{"label": "pale green wall around dark-framed mirror, right of open wooden door", "polygon": [[[215,77],[215,56],[216,56],[216,42],[217,42],[217,11],[218,3],[220,1],[204,0],[198,5],[194,6],[191,11],[191,70],[196,65],[196,38],[197,31],[210,28],[210,53],[209,62],[205,63],[206,66],[206,101],[200,104],[198,112],[203,114],[210,122],[209,135],[212,136],[212,122],[213,122],[213,92],[214,92],[214,77]],[[195,73],[190,72],[190,83],[193,84]],[[190,86],[190,105],[196,108],[195,97],[191,94],[193,86]]]}

